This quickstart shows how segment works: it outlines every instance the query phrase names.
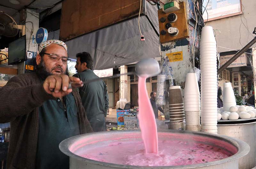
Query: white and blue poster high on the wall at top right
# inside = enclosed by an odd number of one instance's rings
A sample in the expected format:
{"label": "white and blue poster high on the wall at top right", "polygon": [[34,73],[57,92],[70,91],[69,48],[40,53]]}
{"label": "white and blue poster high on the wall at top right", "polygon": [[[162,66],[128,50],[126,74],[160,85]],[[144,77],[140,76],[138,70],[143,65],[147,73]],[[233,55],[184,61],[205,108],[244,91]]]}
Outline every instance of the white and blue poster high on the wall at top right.
{"label": "white and blue poster high on the wall at top right", "polygon": [[[203,6],[204,21],[225,18],[238,15],[241,13],[241,0],[204,0]],[[207,14],[208,13],[208,14]]]}

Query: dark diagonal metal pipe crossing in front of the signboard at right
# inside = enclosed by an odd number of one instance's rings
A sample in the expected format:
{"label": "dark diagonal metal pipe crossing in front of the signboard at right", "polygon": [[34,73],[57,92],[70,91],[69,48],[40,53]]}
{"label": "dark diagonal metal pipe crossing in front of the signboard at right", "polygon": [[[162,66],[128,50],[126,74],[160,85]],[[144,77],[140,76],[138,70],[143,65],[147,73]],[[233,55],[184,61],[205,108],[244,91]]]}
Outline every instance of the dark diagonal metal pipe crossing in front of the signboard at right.
{"label": "dark diagonal metal pipe crossing in front of the signboard at right", "polygon": [[223,70],[225,70],[232,62],[234,62],[240,55],[248,50],[254,43],[256,43],[256,37],[254,37],[247,45],[244,46],[244,48],[239,50],[233,57],[231,57],[225,64],[223,64],[217,71],[217,74],[220,74]]}

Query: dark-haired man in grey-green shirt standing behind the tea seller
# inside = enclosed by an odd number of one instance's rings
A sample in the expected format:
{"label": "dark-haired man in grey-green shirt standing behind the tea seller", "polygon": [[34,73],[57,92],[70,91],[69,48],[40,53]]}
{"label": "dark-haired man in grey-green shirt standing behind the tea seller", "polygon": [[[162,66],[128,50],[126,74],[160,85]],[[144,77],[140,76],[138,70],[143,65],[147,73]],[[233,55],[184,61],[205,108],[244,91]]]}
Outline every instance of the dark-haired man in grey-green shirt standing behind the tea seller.
{"label": "dark-haired man in grey-green shirt standing behind the tea seller", "polygon": [[[78,53],[76,57],[75,68],[78,73],[74,77],[80,78],[83,82],[100,78],[93,73],[93,59],[89,53]],[[93,131],[105,131],[105,117],[107,117],[108,112],[106,84],[102,80],[84,84],[83,87],[79,88],[79,94]]]}

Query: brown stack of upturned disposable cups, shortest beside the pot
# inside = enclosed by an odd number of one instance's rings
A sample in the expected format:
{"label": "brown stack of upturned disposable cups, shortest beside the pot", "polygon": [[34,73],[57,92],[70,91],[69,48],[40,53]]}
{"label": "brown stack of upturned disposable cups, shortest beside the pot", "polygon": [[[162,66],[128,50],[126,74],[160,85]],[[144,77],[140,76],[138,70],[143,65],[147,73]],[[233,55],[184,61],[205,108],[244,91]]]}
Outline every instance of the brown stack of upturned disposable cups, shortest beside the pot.
{"label": "brown stack of upturned disposable cups, shortest beside the pot", "polygon": [[169,129],[185,130],[184,103],[180,86],[169,88]]}

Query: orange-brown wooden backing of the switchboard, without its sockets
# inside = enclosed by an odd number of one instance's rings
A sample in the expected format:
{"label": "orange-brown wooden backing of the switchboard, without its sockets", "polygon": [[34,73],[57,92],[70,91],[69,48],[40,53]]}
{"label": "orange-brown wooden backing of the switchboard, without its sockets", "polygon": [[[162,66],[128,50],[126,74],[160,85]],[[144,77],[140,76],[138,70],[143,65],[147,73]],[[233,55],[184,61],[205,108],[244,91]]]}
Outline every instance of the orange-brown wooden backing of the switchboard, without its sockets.
{"label": "orange-brown wooden backing of the switchboard, without its sockets", "polygon": [[[158,10],[158,22],[159,22],[159,32],[161,33],[162,30],[166,31],[166,35],[160,34],[160,42],[166,43],[172,40],[178,40],[183,38],[188,38],[188,19],[186,14],[186,7],[185,2],[180,2],[180,10],[173,11],[178,17],[177,21],[172,24],[172,27],[176,27],[179,30],[179,34],[177,36],[171,36],[167,29],[165,28],[165,24],[168,23],[168,15],[169,13],[164,13],[162,9]],[[160,18],[165,18],[165,22],[160,22]],[[170,23],[170,22],[169,22]]]}

